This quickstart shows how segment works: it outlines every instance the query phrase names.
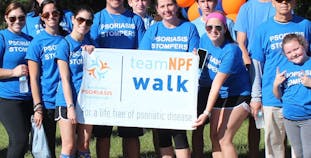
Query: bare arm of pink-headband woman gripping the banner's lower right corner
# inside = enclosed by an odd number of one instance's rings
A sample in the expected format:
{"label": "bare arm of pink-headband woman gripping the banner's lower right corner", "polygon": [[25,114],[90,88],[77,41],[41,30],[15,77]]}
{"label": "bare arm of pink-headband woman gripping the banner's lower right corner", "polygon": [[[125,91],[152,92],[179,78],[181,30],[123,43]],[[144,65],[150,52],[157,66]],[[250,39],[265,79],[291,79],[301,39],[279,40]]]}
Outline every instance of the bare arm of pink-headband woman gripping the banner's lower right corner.
{"label": "bare arm of pink-headband woman gripping the banner's lower right corner", "polygon": [[220,90],[221,86],[223,85],[223,83],[226,81],[226,79],[228,77],[229,77],[229,74],[217,72],[217,74],[213,80],[210,93],[208,95],[206,108],[205,108],[203,114],[201,114],[199,116],[199,118],[197,119],[197,121],[195,122],[194,127],[198,127],[205,122],[205,120],[208,117],[208,114],[210,114],[210,112],[212,111],[212,109],[214,107],[214,104],[216,103],[216,100],[218,98],[219,90]]}

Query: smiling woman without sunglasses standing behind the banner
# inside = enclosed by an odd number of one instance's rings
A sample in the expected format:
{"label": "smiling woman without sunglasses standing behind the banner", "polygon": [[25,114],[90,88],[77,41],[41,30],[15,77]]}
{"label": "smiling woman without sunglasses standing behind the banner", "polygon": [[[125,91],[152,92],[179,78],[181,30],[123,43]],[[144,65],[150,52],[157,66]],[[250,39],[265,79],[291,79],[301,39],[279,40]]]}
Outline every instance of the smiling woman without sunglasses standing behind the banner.
{"label": "smiling woman without sunglasses standing behind the banner", "polygon": [[[175,0],[157,0],[156,10],[162,21],[153,24],[146,31],[139,49],[192,52],[198,47],[198,31],[192,23],[179,18],[179,8]],[[174,37],[181,40],[170,40]],[[163,45],[167,47],[162,47]],[[176,157],[191,157],[185,130],[157,129],[157,132],[162,157],[174,157],[172,138],[175,142]]]}

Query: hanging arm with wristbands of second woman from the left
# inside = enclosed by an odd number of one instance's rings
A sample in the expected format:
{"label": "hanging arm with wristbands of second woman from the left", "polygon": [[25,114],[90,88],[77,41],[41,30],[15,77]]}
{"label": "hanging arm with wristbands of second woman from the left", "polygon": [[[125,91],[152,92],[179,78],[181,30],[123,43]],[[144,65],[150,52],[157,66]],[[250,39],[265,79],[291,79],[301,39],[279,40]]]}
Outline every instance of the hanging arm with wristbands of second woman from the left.
{"label": "hanging arm with wristbands of second woman from the left", "polygon": [[[32,60],[28,60],[28,68],[29,68],[32,99],[33,99],[34,105],[38,105],[38,104],[41,104],[39,64]],[[34,112],[34,121],[37,126],[41,126],[41,123],[43,120],[42,114],[43,114],[42,107],[35,110]]]}

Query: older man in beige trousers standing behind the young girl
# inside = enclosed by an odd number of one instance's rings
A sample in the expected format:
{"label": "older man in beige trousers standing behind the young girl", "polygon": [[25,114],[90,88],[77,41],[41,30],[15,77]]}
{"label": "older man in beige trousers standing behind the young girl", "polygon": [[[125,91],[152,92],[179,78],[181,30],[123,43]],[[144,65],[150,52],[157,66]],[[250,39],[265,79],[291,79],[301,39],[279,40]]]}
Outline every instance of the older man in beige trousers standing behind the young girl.
{"label": "older man in beige trousers standing behind the young girl", "polygon": [[275,70],[286,62],[281,47],[284,36],[301,34],[310,43],[311,23],[292,14],[295,0],[272,0],[272,5],[276,9],[274,17],[258,27],[249,50],[254,68],[251,108],[255,119],[262,105],[264,108],[266,157],[284,158],[282,104],[272,93]]}

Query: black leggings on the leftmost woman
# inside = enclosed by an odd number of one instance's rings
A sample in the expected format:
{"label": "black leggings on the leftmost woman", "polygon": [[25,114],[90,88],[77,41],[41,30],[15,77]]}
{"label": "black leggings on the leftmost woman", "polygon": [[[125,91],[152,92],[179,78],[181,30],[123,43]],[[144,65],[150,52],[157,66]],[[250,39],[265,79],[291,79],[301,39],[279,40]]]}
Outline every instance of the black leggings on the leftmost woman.
{"label": "black leggings on the leftmost woman", "polygon": [[0,98],[0,121],[9,136],[7,158],[24,158],[28,150],[32,101]]}

